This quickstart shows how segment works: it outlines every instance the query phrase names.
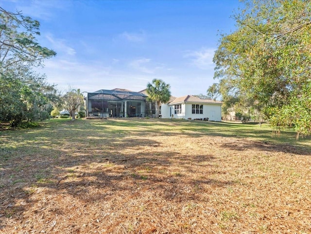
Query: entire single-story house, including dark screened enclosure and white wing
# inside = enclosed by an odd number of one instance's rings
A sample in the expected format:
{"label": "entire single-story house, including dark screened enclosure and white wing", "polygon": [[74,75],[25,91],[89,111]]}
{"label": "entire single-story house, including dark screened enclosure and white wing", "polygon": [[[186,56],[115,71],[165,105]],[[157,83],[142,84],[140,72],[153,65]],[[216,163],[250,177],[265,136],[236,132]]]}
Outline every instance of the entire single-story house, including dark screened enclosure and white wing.
{"label": "entire single-story house, including dark screened enclosure and white wing", "polygon": [[[147,101],[146,90],[98,90],[87,93],[86,117],[154,117],[155,103]],[[162,118],[221,121],[222,102],[187,95],[161,103]]]}

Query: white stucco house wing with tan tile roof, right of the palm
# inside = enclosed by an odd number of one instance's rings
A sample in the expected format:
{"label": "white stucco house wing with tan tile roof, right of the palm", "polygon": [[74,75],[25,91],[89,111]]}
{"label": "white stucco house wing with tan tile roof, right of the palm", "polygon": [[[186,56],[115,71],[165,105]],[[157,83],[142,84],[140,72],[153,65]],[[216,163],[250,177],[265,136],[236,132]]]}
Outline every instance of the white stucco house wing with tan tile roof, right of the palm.
{"label": "white stucco house wing with tan tile roof, right of the palm", "polygon": [[192,95],[171,98],[161,103],[162,118],[222,120],[222,102]]}

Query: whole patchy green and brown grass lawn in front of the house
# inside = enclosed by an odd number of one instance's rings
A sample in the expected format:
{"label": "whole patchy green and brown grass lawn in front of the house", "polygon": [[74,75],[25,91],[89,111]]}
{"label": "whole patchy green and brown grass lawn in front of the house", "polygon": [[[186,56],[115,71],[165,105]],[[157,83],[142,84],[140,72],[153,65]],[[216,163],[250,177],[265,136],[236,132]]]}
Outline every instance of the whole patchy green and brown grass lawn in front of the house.
{"label": "whole patchy green and brown grass lawn in front of the house", "polygon": [[311,138],[155,119],[0,131],[0,233],[308,234]]}

